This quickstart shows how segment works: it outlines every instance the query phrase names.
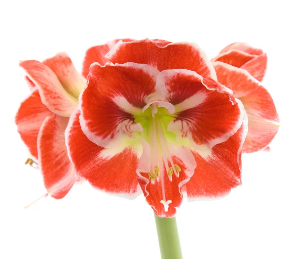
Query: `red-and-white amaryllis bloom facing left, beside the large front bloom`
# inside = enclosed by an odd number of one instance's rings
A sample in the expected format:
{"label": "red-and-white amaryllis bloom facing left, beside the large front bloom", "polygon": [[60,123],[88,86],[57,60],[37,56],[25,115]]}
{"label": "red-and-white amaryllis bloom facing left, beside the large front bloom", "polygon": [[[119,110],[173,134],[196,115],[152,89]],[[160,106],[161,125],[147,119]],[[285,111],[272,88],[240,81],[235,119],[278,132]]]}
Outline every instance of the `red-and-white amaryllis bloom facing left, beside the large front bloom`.
{"label": "red-and-white amaryllis bloom facing left, beside the large front bloom", "polygon": [[23,61],[20,66],[26,71],[32,92],[17,112],[18,132],[38,163],[48,193],[60,199],[77,179],[67,155],[65,129],[86,80],[66,53],[42,63]]}

